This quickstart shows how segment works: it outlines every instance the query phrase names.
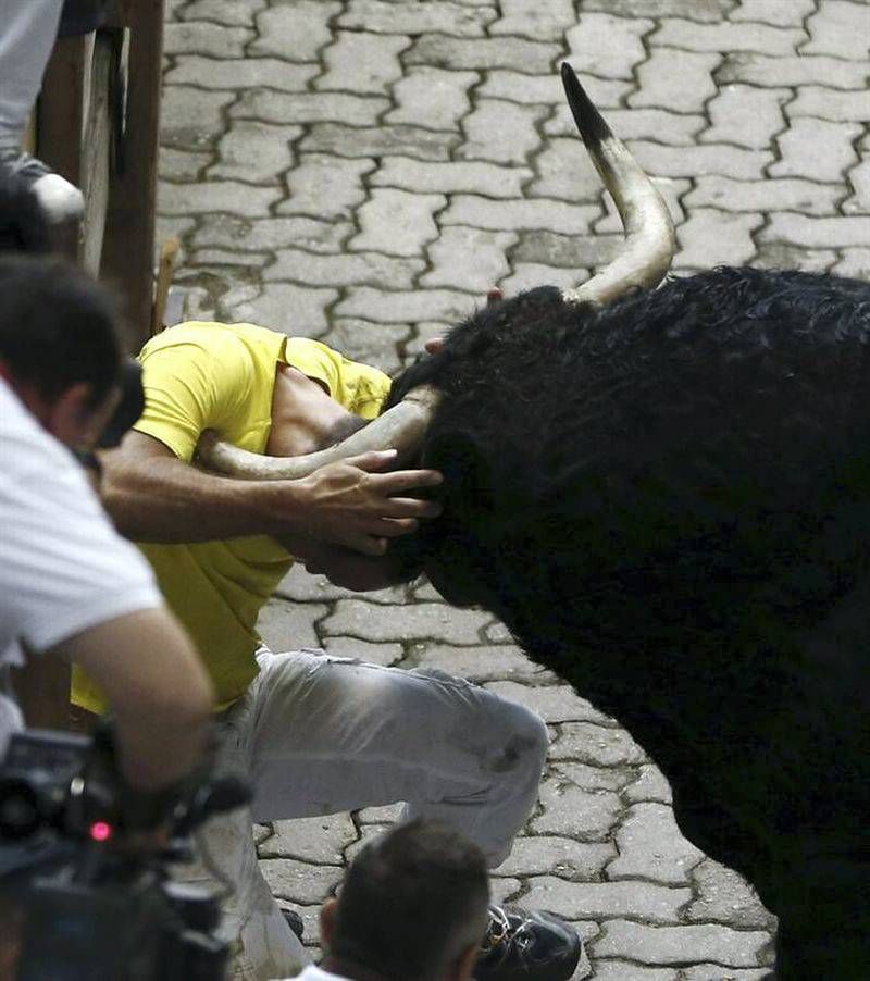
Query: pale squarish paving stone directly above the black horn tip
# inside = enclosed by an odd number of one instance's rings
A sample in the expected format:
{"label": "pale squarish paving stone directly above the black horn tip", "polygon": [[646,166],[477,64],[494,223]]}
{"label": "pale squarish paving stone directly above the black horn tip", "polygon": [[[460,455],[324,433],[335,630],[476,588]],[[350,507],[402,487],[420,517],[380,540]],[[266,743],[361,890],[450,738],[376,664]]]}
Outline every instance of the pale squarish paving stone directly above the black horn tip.
{"label": "pale squarish paving stone directly above the black horn tip", "polygon": [[569,60],[576,60],[592,75],[631,79],[635,65],[646,58],[642,38],[655,26],[643,18],[584,11],[576,27],[564,36]]}

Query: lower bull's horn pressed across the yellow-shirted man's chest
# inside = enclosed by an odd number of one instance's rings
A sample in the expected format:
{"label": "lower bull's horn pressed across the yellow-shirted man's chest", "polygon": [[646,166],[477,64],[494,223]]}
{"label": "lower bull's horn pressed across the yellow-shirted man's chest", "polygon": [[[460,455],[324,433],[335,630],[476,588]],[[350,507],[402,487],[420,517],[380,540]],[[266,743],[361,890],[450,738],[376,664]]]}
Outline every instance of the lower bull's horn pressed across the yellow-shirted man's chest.
{"label": "lower bull's horn pressed across the yellow-shirted man's chest", "polygon": [[397,449],[397,462],[412,459],[423,442],[438,393],[430,385],[412,388],[391,409],[361,430],[318,452],[302,457],[266,457],[239,449],[207,430],[197,444],[196,460],[207,470],[247,481],[297,481],[320,467],[375,449]]}

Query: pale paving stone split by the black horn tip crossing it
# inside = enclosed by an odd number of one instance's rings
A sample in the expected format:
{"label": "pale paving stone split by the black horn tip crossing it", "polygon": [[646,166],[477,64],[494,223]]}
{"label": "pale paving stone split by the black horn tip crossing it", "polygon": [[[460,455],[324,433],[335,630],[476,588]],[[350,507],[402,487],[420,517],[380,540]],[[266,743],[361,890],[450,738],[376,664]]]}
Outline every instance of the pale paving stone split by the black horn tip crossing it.
{"label": "pale paving stone split by the black horn tip crossing it", "polygon": [[[582,65],[574,65],[575,71]],[[598,109],[612,109],[634,88],[634,83],[624,79],[597,78],[581,71],[576,72],[583,88]],[[543,103],[556,107],[558,115],[544,126],[545,133],[557,136],[576,136],[577,127],[564,99],[564,88],[556,72],[546,75],[526,75],[522,72],[489,72],[486,80],[476,90],[478,96],[494,99],[509,99],[522,104]]]}

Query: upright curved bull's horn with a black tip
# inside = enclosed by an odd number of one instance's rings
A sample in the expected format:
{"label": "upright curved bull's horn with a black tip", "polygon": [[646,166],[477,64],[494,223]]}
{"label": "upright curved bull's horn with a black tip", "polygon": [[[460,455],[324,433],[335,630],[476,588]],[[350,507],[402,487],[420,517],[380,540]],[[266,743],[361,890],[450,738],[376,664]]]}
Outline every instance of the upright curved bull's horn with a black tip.
{"label": "upright curved bull's horn with a black tip", "polygon": [[658,286],[675,250],[673,222],[661,195],[627,147],[613,136],[567,62],[562,84],[586,150],[625,227],[625,245],[617,258],[582,286],[563,290],[562,298],[567,303],[604,306],[631,286]]}

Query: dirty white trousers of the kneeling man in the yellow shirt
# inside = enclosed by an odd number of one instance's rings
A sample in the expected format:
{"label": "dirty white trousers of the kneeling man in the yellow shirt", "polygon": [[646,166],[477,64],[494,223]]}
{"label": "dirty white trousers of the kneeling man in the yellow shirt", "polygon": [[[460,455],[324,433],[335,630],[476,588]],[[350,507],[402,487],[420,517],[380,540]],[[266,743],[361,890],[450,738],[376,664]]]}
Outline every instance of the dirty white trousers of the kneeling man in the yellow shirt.
{"label": "dirty white trousers of the kneeling man in the yellow shirt", "polygon": [[[448,821],[495,866],[537,799],[548,746],[534,712],[442,672],[315,650],[263,651],[258,660],[260,674],[221,733],[221,767],[252,781],[253,803],[202,833],[235,885],[222,930],[234,948],[233,977],[245,981],[289,977],[309,961],[260,873],[251,818],[405,802],[403,820]],[[209,881],[201,868],[185,878]]]}

